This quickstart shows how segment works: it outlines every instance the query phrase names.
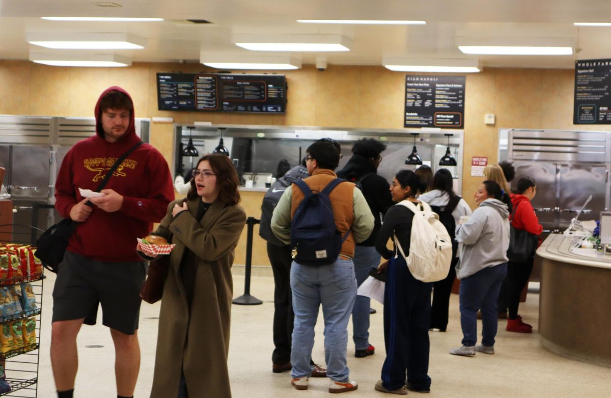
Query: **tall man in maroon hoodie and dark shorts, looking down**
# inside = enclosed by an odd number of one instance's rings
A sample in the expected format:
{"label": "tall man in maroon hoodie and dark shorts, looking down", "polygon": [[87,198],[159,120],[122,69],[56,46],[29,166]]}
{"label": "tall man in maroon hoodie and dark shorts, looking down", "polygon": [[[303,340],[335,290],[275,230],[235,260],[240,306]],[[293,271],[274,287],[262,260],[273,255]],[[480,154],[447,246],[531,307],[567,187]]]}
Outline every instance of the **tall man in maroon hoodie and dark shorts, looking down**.
{"label": "tall man in maroon hoodie and dark shorts, looking down", "polygon": [[109,87],[95,105],[95,136],[71,148],[57,175],[55,208],[78,222],[53,289],[51,364],[59,398],[73,396],[82,324],[94,325],[98,305],[115,346],[117,397],[132,397],[140,367],[137,339],[145,262],[136,238],[152,230],[174,200],[167,162],[148,144],[137,147],[110,176],[104,197],[88,199],[114,162],[139,142],[130,95]]}

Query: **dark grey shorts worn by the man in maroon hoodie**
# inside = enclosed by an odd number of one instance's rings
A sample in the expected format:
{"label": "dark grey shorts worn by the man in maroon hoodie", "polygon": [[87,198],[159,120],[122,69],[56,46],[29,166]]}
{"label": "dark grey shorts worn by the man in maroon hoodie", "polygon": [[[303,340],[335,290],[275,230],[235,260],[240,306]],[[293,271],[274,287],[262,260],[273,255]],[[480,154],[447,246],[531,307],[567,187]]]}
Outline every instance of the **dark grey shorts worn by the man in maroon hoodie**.
{"label": "dark grey shorts worn by the man in maroon hoodie", "polygon": [[95,325],[101,304],[104,326],[133,335],[145,276],[145,261],[102,262],[66,251],[53,288],[53,322],[84,318]]}

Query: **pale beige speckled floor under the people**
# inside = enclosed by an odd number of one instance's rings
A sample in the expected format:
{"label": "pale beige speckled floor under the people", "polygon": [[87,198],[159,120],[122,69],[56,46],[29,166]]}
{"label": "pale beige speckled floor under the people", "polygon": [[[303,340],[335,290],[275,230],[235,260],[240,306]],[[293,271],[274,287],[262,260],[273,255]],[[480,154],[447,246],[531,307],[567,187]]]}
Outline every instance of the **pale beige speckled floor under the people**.
{"label": "pale beige speckled floor under the people", "polygon": [[[236,273],[239,269],[236,267]],[[235,296],[243,291],[244,278],[236,275]],[[45,281],[43,302],[43,329],[41,336],[40,383],[38,397],[53,398],[54,383],[49,361],[50,322],[54,277]],[[263,300],[263,305],[233,306],[232,336],[229,370],[233,397],[236,398],[287,398],[328,397],[326,379],[310,380],[307,391],[296,391],[290,385],[290,375],[271,372],[271,322],[273,316],[273,279],[254,276],[251,294]],[[532,323],[535,333],[521,335],[507,333],[505,321],[499,321],[496,355],[478,354],[465,358],[448,354],[459,346],[461,332],[458,314],[458,296],[450,302],[450,325],[446,333],[431,332],[430,376],[431,397],[611,397],[611,369],[561,358],[548,352],[540,344],[537,330],[538,295],[529,294],[521,305],[525,322]],[[377,314],[371,316],[370,341],[376,353],[367,358],[354,358],[349,325],[348,366],[351,378],[359,382],[357,391],[346,393],[348,397],[383,397],[373,386],[380,377],[384,361],[384,335],[382,306],[373,303]],[[159,304],[142,304],[139,336],[142,349],[142,366],[135,397],[148,397],[152,382],[155,342],[157,338]],[[84,326],[78,339],[79,374],[76,380],[78,398],[114,398],[114,351],[108,330],[99,324]],[[602,330],[609,334],[610,331]],[[576,336],[578,338],[578,336]],[[99,348],[87,346],[101,345]],[[202,353],[205,355],[205,353]],[[316,342],[313,351],[315,361],[324,360],[322,316],[316,326]],[[203,369],[202,371],[205,371]],[[414,395],[415,393],[410,393]],[[168,397],[174,398],[174,397]],[[191,397],[200,398],[200,397]],[[203,397],[202,397],[203,398]],[[214,397],[206,397],[214,398]]]}

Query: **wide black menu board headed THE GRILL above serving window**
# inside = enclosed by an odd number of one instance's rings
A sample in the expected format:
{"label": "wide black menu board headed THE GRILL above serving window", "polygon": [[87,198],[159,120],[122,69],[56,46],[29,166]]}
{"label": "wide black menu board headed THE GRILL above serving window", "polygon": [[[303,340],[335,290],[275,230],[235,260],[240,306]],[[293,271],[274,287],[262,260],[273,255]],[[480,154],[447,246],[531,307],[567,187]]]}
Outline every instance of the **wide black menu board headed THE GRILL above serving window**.
{"label": "wide black menu board headed THE GRILL above serving window", "polygon": [[286,93],[279,74],[157,74],[159,110],[284,114]]}

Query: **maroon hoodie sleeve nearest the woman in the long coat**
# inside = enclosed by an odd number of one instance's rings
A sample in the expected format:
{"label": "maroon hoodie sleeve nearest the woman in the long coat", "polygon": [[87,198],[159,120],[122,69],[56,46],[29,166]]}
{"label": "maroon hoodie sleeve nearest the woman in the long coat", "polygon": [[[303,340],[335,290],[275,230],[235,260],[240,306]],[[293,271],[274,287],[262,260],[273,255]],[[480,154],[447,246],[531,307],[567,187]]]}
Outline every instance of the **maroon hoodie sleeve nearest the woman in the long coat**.
{"label": "maroon hoodie sleeve nearest the woman in the long coat", "polygon": [[131,217],[146,222],[159,222],[166,215],[167,204],[174,200],[174,184],[172,176],[161,153],[157,150],[150,151],[147,156],[149,187],[147,197],[134,198],[123,197],[121,211]]}

